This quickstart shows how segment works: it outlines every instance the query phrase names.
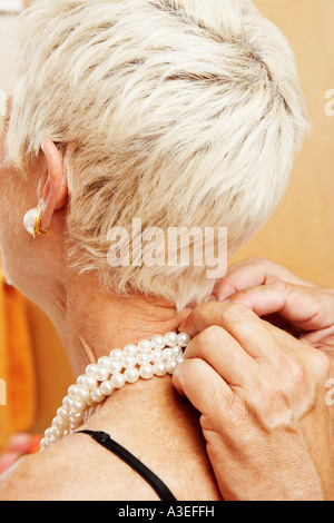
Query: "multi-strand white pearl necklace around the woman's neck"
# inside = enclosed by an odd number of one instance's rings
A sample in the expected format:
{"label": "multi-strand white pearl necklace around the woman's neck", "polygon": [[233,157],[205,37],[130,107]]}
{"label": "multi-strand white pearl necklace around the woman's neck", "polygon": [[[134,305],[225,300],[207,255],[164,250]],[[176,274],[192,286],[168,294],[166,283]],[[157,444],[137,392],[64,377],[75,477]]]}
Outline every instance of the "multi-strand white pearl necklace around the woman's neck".
{"label": "multi-strand white pearl necklace around the woman's neck", "polygon": [[165,336],[154,336],[151,341],[141,339],[137,345],[126,345],[124,349],[114,348],[109,356],[88,365],[77,384],[69,387],[62,406],[40,443],[41,451],[72,434],[82,425],[86,411],[101,403],[115,389],[136,383],[140,377],[150,379],[173,374],[184,361],[183,348],[189,341],[186,333],[167,333]]}

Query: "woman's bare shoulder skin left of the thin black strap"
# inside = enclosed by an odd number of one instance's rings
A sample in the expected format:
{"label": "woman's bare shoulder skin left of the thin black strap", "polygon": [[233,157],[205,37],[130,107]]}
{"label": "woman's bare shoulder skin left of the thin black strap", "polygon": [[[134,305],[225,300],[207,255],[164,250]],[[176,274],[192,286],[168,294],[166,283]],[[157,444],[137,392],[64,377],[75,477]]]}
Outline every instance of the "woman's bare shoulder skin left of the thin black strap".
{"label": "woman's bare shoulder skin left of the thin black strap", "polygon": [[89,438],[68,437],[0,476],[0,501],[158,501],[143,478]]}

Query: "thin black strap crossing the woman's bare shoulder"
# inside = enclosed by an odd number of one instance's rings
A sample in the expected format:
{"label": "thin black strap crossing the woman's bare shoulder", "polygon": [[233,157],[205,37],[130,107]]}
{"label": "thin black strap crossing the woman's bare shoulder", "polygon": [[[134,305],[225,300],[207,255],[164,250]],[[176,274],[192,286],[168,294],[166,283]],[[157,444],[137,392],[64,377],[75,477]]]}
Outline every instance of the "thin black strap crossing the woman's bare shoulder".
{"label": "thin black strap crossing the woman's bare shoulder", "polygon": [[144,480],[146,480],[150,486],[156,491],[161,501],[177,501],[176,497],[171,494],[169,489],[165,483],[159,480],[154,472],[151,472],[147,466],[145,466],[136,456],[134,456],[129,451],[124,448],[119,443],[111,440],[109,434],[105,432],[94,432],[94,431],[78,431],[76,434],[88,434],[97,443],[102,445],[108,451],[116,454],[124,462],[126,462],[134,471],[138,472]]}

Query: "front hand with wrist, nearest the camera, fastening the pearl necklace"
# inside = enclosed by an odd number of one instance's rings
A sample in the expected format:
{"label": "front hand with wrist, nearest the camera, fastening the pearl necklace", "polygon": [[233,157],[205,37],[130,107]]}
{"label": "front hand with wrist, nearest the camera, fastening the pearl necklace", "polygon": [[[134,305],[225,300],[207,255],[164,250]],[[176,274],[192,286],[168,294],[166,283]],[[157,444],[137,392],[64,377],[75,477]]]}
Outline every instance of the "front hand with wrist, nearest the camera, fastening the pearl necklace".
{"label": "front hand with wrist, nearest the camera, fastening the pearl necklace", "polygon": [[[324,316],[288,316],[303,328],[330,326]],[[334,500],[327,356],[239,304],[204,304],[180,329],[193,339],[174,384],[202,413],[224,499]]]}

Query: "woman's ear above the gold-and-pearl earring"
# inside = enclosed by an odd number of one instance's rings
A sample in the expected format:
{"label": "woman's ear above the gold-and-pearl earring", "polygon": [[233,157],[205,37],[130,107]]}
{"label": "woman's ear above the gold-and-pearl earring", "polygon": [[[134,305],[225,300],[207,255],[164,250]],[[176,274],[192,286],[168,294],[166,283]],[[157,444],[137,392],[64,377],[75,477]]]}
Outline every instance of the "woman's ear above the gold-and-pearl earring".
{"label": "woman's ear above the gold-and-pearl earring", "polygon": [[47,172],[42,176],[39,187],[39,207],[41,229],[47,230],[56,210],[61,209],[68,198],[67,180],[63,174],[62,156],[51,140],[45,140],[41,149],[45,154]]}

